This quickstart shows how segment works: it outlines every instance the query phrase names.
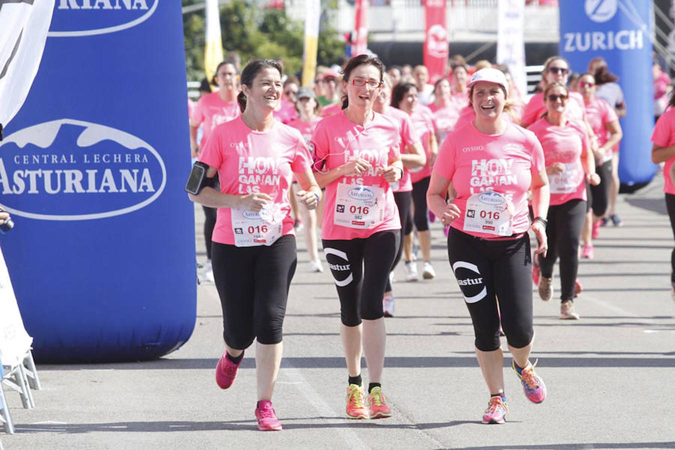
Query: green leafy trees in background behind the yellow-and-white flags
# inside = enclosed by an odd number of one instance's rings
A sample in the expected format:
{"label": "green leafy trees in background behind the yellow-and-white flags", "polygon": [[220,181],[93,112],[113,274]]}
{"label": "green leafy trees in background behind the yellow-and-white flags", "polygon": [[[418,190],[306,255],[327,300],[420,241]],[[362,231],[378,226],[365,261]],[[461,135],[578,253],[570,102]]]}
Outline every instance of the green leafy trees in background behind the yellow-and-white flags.
{"label": "green leafy trees in background behind the yellow-and-white flags", "polygon": [[[183,0],[183,6],[202,0]],[[236,51],[246,63],[255,58],[281,59],[288,74],[302,68],[304,26],[292,20],[281,9],[259,8],[259,3],[232,0],[220,9],[223,49]],[[186,69],[189,80],[204,77],[204,17],[203,10],[183,16]],[[344,42],[338,32],[324,23],[319,32],[317,63],[331,65],[344,55]]]}

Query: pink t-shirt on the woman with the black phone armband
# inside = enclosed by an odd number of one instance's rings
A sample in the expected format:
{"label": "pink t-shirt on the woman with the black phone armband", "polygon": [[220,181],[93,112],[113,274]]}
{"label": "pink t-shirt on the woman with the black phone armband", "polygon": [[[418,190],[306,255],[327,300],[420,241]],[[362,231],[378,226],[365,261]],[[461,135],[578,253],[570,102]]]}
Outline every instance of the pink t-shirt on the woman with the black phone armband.
{"label": "pink t-shirt on the woman with the black phone armband", "polygon": [[[220,192],[271,196],[283,217],[281,235],[294,234],[288,187],[292,173],[304,172],[312,165],[298,130],[275,122],[271,130],[257,132],[237,117],[213,130],[199,160],[218,169]],[[218,208],[213,241],[234,245],[233,228],[232,208]]]}

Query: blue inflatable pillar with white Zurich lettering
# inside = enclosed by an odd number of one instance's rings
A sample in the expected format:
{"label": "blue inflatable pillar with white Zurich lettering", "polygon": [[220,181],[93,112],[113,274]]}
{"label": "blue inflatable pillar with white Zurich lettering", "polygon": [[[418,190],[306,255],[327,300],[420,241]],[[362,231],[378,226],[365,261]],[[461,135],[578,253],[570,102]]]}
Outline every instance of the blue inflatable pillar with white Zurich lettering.
{"label": "blue inflatable pillar with white Zurich lettering", "polygon": [[575,72],[587,72],[601,56],[617,74],[627,113],[621,119],[619,177],[622,184],[651,181],[653,80],[651,1],[585,0],[560,2],[560,54]]}

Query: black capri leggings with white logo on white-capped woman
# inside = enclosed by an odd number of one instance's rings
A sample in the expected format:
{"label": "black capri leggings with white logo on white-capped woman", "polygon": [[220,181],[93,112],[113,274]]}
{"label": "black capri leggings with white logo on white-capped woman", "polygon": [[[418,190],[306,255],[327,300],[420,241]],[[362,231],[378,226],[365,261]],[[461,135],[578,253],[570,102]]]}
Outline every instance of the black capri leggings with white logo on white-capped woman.
{"label": "black capri leggings with white logo on white-capped woman", "polygon": [[512,240],[483,240],[451,227],[448,257],[471,314],[476,348],[499,348],[500,314],[509,345],[528,345],[535,332],[527,233]]}

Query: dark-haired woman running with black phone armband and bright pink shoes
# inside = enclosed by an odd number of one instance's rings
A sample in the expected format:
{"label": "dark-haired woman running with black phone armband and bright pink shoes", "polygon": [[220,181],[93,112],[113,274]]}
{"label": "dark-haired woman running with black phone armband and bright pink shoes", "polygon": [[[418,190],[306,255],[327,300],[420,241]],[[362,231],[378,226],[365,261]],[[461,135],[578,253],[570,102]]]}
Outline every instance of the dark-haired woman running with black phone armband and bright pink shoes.
{"label": "dark-haired woman running with black phone armband and bright pink shoes", "polygon": [[218,208],[212,254],[225,352],[216,366],[216,383],[221,389],[232,386],[244,350],[256,339],[260,430],[281,430],[271,398],[297,261],[288,203],[292,173],[302,186],[296,194],[301,204],[315,208],[321,198],[302,136],[273,117],[280,96],[277,61],[246,65],[238,96],[242,115],[215,128],[200,155],[209,179],[219,173],[220,190],[205,187],[190,195],[194,202]]}

